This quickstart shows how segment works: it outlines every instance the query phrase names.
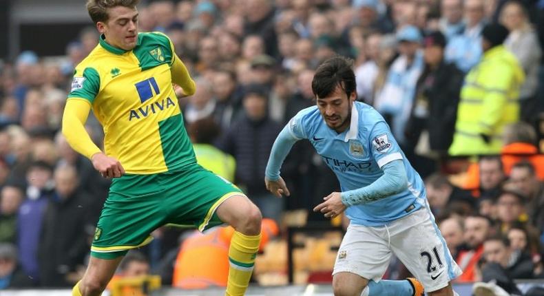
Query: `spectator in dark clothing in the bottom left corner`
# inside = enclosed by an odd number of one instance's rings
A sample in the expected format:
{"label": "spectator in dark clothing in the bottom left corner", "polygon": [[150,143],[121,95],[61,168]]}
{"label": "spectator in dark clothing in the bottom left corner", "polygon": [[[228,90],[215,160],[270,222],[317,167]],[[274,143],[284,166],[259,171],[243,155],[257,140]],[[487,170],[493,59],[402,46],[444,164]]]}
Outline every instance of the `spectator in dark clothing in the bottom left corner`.
{"label": "spectator in dark clothing in the bottom left corner", "polygon": [[0,290],[35,286],[19,266],[14,244],[0,243]]}

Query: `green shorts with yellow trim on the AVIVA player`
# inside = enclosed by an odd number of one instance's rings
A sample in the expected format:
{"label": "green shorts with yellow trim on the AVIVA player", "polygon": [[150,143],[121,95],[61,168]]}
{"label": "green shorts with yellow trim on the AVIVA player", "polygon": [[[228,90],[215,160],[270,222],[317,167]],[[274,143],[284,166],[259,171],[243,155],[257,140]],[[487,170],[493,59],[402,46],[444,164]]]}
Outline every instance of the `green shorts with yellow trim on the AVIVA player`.
{"label": "green shorts with yellow trim on the AVIVA player", "polygon": [[149,244],[152,231],[165,224],[198,228],[223,224],[216,209],[242,191],[194,164],[182,171],[115,178],[98,220],[91,254],[102,259],[125,255]]}

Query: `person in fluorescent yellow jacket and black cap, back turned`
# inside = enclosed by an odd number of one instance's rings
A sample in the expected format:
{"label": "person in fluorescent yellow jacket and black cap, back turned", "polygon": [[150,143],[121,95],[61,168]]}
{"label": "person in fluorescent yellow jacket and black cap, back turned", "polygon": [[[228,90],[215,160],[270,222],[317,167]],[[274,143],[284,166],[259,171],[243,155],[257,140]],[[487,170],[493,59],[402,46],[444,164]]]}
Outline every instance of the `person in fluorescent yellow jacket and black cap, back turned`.
{"label": "person in fluorescent yellow jacket and black cap, back turned", "polygon": [[455,133],[449,154],[499,154],[506,125],[519,120],[519,91],[525,73],[503,45],[508,29],[486,25],[482,31],[483,59],[467,76],[461,89]]}

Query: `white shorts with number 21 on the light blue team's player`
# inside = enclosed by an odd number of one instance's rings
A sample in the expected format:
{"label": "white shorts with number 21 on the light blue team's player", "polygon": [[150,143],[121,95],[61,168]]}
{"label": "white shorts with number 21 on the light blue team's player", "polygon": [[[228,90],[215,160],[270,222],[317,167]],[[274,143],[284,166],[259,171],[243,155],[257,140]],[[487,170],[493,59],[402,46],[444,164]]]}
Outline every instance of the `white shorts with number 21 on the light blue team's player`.
{"label": "white shorts with number 21 on the light blue team's player", "polygon": [[423,207],[386,226],[350,224],[336,257],[335,273],[378,282],[395,254],[426,292],[448,286],[462,271],[446,247],[435,217]]}

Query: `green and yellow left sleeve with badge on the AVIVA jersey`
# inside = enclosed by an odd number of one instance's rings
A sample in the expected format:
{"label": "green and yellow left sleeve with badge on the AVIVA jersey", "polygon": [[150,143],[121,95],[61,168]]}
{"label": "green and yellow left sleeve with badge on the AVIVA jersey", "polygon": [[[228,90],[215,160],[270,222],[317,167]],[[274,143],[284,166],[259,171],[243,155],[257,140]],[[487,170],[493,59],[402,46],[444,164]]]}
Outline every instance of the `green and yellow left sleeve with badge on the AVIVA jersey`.
{"label": "green and yellow left sleeve with badge on the AVIVA jersey", "polygon": [[84,98],[89,103],[94,102],[100,89],[100,75],[92,67],[76,68],[72,89],[68,98]]}

